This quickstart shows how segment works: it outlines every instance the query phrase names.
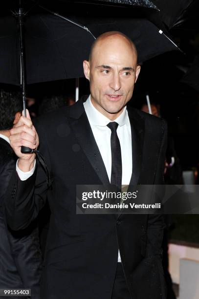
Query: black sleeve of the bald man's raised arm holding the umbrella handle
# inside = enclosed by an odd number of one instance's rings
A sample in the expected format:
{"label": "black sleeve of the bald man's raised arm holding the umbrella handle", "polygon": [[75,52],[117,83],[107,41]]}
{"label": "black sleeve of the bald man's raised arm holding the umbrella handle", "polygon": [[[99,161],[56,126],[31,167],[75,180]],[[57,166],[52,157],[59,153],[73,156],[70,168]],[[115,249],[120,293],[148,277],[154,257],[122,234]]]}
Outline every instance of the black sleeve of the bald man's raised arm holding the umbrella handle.
{"label": "black sleeve of the bald man's raised arm holding the umbrella handle", "polygon": [[[49,169],[44,130],[40,128],[37,131],[42,141],[39,150]],[[26,228],[38,216],[45,204],[47,190],[46,174],[38,159],[33,175],[24,181],[19,178],[17,171],[13,171],[4,200],[7,223],[12,230]]]}

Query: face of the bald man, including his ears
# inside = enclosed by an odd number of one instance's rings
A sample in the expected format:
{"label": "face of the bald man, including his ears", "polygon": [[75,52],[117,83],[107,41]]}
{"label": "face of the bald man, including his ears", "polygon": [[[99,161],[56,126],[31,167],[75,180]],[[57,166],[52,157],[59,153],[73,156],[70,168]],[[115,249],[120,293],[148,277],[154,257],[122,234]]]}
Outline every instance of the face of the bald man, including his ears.
{"label": "face of the bald man, including his ears", "polygon": [[84,61],[93,106],[109,119],[117,118],[132,98],[139,70],[136,53],[125,38],[116,36],[98,42],[91,61]]}

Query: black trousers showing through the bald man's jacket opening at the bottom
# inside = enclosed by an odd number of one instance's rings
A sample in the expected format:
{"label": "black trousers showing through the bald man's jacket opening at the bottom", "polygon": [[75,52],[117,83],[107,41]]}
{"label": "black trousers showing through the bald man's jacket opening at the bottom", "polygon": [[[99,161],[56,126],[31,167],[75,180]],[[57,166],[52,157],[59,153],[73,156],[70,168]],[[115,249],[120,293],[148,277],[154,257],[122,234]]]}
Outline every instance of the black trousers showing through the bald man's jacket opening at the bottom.
{"label": "black trousers showing through the bald man's jacket opening at the bottom", "polygon": [[117,263],[117,271],[111,299],[131,299],[126,279],[124,277],[122,263]]}

